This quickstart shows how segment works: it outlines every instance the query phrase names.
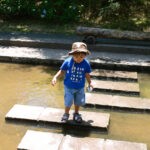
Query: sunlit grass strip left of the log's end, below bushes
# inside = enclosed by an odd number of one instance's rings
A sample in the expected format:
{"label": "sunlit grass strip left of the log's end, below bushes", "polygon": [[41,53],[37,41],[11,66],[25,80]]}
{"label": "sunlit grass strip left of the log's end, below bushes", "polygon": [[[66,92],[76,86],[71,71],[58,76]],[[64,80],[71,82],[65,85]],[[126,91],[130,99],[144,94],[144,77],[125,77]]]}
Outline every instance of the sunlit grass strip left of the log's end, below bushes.
{"label": "sunlit grass strip left of the log's end, below bushes", "polygon": [[0,21],[0,32],[34,32],[74,34],[75,24],[52,24],[42,20]]}

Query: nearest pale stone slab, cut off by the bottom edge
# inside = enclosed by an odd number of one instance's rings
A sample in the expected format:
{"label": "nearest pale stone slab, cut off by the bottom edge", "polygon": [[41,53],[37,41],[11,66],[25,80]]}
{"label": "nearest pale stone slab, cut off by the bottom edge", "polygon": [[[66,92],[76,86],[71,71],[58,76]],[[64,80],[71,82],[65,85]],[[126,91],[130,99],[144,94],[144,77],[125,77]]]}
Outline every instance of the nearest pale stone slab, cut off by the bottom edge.
{"label": "nearest pale stone slab, cut off by the bottom edge", "polygon": [[144,143],[104,140],[100,138],[73,137],[56,133],[28,130],[18,145],[18,150],[147,150]]}

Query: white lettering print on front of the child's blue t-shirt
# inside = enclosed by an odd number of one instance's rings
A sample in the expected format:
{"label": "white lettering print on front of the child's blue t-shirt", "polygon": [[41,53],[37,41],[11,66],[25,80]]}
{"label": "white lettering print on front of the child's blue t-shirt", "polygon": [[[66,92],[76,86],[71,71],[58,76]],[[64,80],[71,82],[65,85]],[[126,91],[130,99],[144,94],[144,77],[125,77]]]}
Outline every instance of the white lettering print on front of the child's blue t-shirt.
{"label": "white lettering print on front of the child's blue t-shirt", "polygon": [[75,66],[75,64],[73,64],[71,69],[70,80],[72,82],[80,83],[82,82],[83,74],[84,74],[84,68]]}

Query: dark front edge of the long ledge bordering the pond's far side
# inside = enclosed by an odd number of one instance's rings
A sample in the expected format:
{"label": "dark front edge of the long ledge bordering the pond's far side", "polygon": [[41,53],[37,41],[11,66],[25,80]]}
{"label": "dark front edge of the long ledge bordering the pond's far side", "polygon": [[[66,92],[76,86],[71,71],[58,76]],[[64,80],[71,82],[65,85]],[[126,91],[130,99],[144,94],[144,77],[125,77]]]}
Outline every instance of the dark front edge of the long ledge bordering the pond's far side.
{"label": "dark front edge of the long ledge bordering the pond's far side", "polygon": [[[54,57],[55,58],[55,57]],[[1,62],[19,63],[19,64],[35,64],[35,65],[53,65],[60,66],[63,60],[60,59],[41,59],[41,58],[30,58],[30,57],[13,57],[13,56],[0,56]],[[108,70],[126,70],[126,71],[139,71],[139,72],[150,72],[150,63],[145,65],[138,63],[108,63],[99,62],[99,60],[90,60],[92,68],[96,69],[108,69]]]}

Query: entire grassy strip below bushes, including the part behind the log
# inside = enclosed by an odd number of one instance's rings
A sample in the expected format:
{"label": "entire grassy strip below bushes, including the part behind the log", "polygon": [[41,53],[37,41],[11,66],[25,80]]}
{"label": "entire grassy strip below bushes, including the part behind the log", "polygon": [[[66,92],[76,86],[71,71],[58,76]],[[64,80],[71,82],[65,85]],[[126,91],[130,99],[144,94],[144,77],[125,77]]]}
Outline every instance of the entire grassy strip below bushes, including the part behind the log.
{"label": "entire grassy strip below bushes, including the part behind the log", "polygon": [[34,32],[34,33],[64,33],[64,34],[75,34],[77,26],[89,26],[89,27],[101,27],[121,30],[132,30],[132,31],[144,31],[150,32],[150,26],[135,25],[133,22],[127,21],[110,21],[101,22],[101,24],[89,24],[89,23],[68,23],[68,24],[53,24],[43,20],[0,20],[0,32]]}

